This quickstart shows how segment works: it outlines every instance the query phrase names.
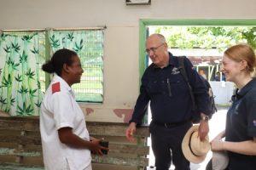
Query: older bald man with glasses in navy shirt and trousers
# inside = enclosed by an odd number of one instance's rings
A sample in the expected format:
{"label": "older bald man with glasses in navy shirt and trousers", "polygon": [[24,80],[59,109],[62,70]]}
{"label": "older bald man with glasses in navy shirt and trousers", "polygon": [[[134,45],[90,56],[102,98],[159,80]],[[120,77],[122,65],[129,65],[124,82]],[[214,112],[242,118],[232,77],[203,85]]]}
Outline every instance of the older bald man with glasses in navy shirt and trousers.
{"label": "older bald man with glasses in navy shirt and trousers", "polygon": [[[171,162],[177,170],[189,170],[189,161],[183,156],[181,149],[183,136],[192,126],[189,88],[179,71],[177,57],[168,52],[165,37],[160,34],[148,37],[146,52],[153,64],[143,74],[140,95],[126,129],[126,138],[133,139],[133,133],[142,122],[150,101],[152,121],[149,130],[156,170],[169,169]],[[184,60],[184,65],[201,111],[199,136],[200,139],[205,139],[209,131],[207,115],[210,114],[207,88],[189,59]]]}

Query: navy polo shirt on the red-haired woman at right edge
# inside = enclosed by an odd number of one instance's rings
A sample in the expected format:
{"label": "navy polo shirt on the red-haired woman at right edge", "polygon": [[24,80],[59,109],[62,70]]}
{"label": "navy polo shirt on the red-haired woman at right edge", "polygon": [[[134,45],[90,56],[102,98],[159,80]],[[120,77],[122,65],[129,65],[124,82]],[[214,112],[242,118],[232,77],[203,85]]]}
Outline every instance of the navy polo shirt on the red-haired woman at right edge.
{"label": "navy polo shirt on the red-haired woman at right edge", "polygon": [[[226,119],[225,140],[241,142],[256,137],[256,79],[248,82],[241,91],[236,90]],[[256,169],[256,156],[228,152],[231,169]]]}

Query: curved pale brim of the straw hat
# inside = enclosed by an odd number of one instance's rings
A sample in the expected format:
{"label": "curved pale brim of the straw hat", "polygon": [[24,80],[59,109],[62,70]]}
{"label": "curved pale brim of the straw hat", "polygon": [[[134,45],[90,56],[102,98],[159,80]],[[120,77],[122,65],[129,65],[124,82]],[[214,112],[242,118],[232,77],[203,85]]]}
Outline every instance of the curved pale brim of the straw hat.
{"label": "curved pale brim of the straw hat", "polygon": [[207,157],[207,154],[204,156],[195,156],[192,151],[189,149],[189,139],[190,139],[190,135],[196,131],[198,131],[198,125],[190,127],[188,132],[185,134],[184,138],[183,138],[183,143],[182,143],[182,150],[183,150],[183,155],[185,156],[185,158],[192,162],[192,163],[201,163],[202,161],[204,161]]}

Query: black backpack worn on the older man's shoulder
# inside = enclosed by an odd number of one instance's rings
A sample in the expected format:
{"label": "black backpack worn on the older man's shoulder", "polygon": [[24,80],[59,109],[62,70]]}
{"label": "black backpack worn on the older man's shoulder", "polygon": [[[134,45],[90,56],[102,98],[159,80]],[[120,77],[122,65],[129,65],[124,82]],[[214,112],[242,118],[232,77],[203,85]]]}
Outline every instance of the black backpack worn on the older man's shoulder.
{"label": "black backpack worn on the older man's shoulder", "polygon": [[[184,58],[185,58],[185,56],[177,57],[178,69],[179,69],[180,73],[182,74],[185,82],[187,82],[187,85],[189,87],[189,94],[192,99],[192,111],[194,112],[193,116],[191,117],[191,120],[193,123],[199,123],[200,119],[201,119],[200,111],[197,110],[197,106],[195,104],[195,96],[193,94],[192,87],[190,86],[190,83],[189,83],[189,77],[187,75],[185,65],[184,65]],[[209,117],[211,118],[212,115],[215,112],[217,112],[217,108],[216,108],[215,101],[214,101],[215,96],[212,93],[212,87],[211,87],[210,83],[204,77],[201,77],[201,79],[205,83],[205,86],[207,87],[207,90],[209,93],[209,100],[210,100],[210,105],[211,105],[211,114],[209,115]]]}

